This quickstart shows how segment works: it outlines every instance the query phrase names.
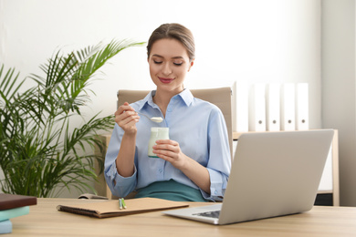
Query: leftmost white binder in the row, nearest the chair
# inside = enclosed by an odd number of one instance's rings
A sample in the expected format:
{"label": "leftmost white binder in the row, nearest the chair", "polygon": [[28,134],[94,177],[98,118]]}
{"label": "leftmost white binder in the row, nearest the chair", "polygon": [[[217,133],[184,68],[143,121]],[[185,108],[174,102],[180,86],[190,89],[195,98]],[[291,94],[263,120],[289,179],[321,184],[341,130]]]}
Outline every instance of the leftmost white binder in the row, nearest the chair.
{"label": "leftmost white binder in the row, nearest the chair", "polygon": [[248,89],[246,83],[235,82],[233,85],[233,131],[248,131]]}

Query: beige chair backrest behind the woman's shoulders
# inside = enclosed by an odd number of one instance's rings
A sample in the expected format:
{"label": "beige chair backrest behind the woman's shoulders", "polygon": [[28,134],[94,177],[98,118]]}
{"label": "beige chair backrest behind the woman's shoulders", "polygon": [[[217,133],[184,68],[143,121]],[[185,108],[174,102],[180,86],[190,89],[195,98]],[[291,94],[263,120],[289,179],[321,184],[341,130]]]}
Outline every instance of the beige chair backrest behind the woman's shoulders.
{"label": "beige chair backrest behind the woman's shoulders", "polygon": [[[129,90],[120,89],[118,91],[118,107],[124,102],[133,103],[142,98],[145,98],[150,90]],[[215,104],[223,112],[227,127],[231,159],[233,158],[233,127],[232,127],[232,112],[231,112],[231,88],[206,88],[206,89],[191,89],[195,98],[200,98]]]}

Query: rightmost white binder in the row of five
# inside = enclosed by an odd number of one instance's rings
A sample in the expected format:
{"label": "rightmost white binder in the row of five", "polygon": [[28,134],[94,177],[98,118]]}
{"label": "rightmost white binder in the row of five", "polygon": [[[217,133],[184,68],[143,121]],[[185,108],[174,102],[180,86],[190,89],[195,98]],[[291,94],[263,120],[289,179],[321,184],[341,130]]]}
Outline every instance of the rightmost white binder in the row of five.
{"label": "rightmost white binder in the row of five", "polygon": [[296,88],[296,129],[309,129],[309,87],[298,83]]}

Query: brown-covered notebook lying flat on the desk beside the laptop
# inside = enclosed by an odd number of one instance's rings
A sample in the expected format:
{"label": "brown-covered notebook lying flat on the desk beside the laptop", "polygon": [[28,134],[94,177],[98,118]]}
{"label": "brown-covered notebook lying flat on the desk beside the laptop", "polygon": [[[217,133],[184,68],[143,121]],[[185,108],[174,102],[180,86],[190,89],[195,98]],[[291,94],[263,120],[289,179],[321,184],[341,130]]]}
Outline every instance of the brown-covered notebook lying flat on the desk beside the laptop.
{"label": "brown-covered notebook lying flat on the desk beside the laptop", "polygon": [[125,200],[125,203],[126,209],[120,209],[118,200],[89,203],[83,200],[82,204],[58,205],[57,210],[91,217],[106,218],[189,206],[180,201],[168,201],[156,198],[130,199]]}

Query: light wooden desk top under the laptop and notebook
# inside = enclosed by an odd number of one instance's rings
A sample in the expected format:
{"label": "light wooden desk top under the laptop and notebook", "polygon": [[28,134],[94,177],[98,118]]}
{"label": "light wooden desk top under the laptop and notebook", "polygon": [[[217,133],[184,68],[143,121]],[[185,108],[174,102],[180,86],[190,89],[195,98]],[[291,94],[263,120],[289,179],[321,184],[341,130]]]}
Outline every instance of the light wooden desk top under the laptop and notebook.
{"label": "light wooden desk top under the laptop and notebook", "polygon": [[[74,199],[38,199],[30,213],[12,219],[13,233],[2,236],[355,236],[356,208],[316,206],[300,214],[215,226],[177,219],[161,211],[107,219],[57,211]],[[190,202],[191,206],[206,205]],[[209,203],[208,203],[209,204]]]}

